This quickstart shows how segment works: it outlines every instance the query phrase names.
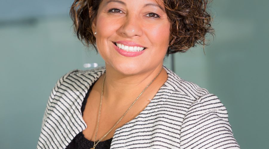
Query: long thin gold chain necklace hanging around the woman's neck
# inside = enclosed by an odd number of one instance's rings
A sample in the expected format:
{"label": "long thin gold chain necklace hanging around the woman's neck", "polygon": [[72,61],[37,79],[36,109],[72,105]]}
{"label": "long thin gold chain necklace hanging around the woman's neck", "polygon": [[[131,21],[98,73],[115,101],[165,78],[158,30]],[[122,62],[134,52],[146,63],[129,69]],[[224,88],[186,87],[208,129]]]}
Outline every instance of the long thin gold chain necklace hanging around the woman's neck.
{"label": "long thin gold chain necklace hanging around the woman's neck", "polygon": [[[163,69],[163,68],[162,68]],[[111,131],[112,129],[114,129],[116,127],[116,125],[121,121],[121,119],[123,119],[123,117],[126,115],[126,113],[130,110],[130,108],[135,104],[135,102],[138,100],[138,98],[143,94],[143,92],[150,86],[150,84],[158,77],[158,75],[161,73],[162,69],[158,72],[158,74],[156,75],[156,77],[154,77],[154,79],[149,83],[149,85],[146,86],[146,88],[139,94],[139,96],[136,98],[136,100],[132,103],[132,105],[127,109],[127,111],[123,114],[123,116],[116,122],[116,124],[95,144],[96,141],[96,136],[97,136],[97,132],[98,132],[98,126],[99,126],[99,120],[100,120],[100,114],[101,114],[101,107],[102,107],[102,100],[103,100],[103,91],[104,91],[104,84],[105,84],[105,79],[106,79],[106,75],[104,77],[103,80],[103,86],[102,86],[102,95],[101,95],[101,102],[100,102],[100,108],[99,108],[99,114],[98,114],[98,121],[97,121],[97,128],[96,128],[96,133],[95,133],[95,137],[94,137],[94,146],[91,149],[95,149],[96,145],[103,140]]]}

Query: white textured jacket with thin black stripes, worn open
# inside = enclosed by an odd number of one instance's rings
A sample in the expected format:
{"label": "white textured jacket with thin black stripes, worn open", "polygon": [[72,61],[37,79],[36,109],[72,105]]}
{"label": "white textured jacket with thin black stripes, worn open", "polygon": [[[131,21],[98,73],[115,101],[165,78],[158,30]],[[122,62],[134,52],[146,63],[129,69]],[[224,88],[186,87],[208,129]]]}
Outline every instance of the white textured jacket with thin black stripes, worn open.
{"label": "white textured jacket with thin black stripes, worn open", "polygon": [[[114,133],[111,148],[240,148],[221,101],[206,89],[168,74],[146,108]],[[66,148],[87,125],[80,111],[104,67],[74,70],[51,91],[37,148]]]}

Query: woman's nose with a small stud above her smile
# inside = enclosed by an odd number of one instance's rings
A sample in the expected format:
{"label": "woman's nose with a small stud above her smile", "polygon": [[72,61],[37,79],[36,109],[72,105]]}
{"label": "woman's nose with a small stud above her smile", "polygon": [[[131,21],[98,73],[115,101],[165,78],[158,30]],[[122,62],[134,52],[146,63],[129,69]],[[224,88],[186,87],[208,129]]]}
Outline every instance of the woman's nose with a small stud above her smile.
{"label": "woman's nose with a small stud above her smile", "polygon": [[120,22],[122,25],[118,29],[118,33],[123,37],[131,38],[143,34],[141,21],[135,15],[126,15]]}

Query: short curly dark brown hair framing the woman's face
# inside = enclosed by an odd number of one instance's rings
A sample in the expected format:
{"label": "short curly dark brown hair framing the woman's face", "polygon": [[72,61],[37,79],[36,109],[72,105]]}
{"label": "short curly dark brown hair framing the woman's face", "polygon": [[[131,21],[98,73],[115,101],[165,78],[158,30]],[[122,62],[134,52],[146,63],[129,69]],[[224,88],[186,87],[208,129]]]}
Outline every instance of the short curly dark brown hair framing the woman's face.
{"label": "short curly dark brown hair framing the woman's face", "polygon": [[[70,9],[77,37],[85,46],[93,45],[96,51],[96,38],[91,26],[101,1],[75,0]],[[206,10],[209,2],[208,0],[163,0],[166,15],[171,23],[172,36],[167,55],[186,52],[197,44],[208,45],[205,35],[210,33],[214,36],[214,29],[211,27],[212,18]]]}

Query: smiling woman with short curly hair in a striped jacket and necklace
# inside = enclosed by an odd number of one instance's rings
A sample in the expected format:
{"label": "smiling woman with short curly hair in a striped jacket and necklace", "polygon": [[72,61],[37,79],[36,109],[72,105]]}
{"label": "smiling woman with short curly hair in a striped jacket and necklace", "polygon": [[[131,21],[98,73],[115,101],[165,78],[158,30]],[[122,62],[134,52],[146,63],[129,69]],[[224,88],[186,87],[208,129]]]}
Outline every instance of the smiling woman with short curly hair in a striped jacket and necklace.
{"label": "smiling woman with short curly hair in a striped jacket and necklace", "polygon": [[206,0],[75,0],[77,36],[106,66],[51,92],[37,148],[239,148],[218,97],[163,66],[205,45]]}

